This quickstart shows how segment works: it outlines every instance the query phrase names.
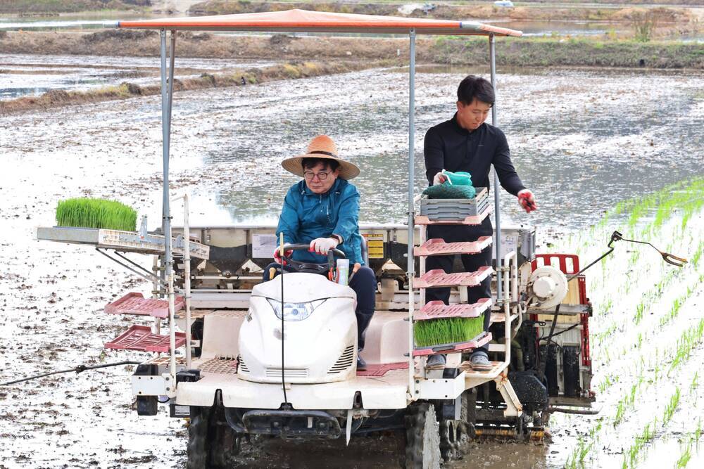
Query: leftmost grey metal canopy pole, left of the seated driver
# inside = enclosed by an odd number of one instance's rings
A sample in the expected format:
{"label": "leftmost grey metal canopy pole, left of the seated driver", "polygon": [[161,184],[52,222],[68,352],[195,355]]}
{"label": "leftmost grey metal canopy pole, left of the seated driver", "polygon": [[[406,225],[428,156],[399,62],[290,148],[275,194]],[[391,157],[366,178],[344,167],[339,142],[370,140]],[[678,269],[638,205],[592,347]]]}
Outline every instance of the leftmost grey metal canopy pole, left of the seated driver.
{"label": "leftmost grey metal canopy pole, left of the seated driver", "polygon": [[[164,269],[167,282],[169,301],[169,333],[170,333],[170,373],[167,378],[166,390],[169,397],[176,395],[176,329],[175,329],[175,294],[171,252],[171,209],[169,200],[169,149],[171,131],[171,97],[173,94],[173,63],[176,36],[172,34],[170,50],[170,68],[166,65],[166,30],[160,31],[161,37],[161,137],[163,158],[163,198],[162,198],[162,230],[164,232]],[[168,72],[168,78],[167,78]]]}

